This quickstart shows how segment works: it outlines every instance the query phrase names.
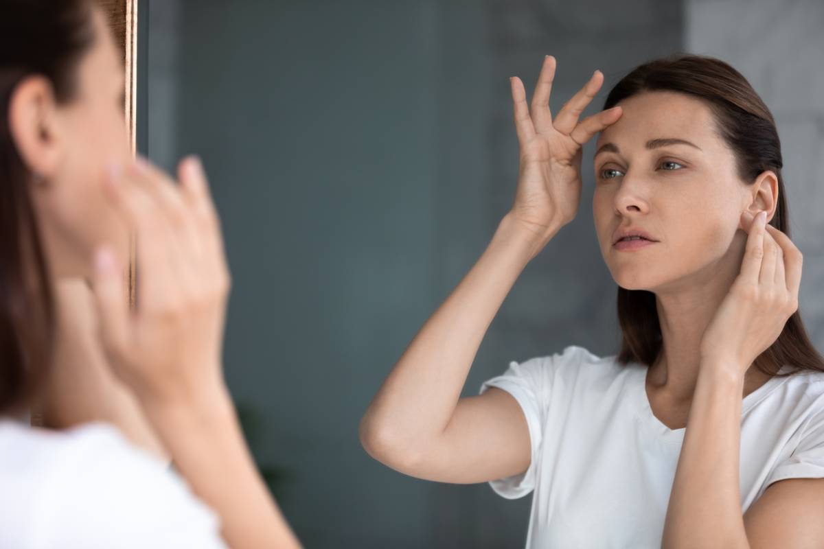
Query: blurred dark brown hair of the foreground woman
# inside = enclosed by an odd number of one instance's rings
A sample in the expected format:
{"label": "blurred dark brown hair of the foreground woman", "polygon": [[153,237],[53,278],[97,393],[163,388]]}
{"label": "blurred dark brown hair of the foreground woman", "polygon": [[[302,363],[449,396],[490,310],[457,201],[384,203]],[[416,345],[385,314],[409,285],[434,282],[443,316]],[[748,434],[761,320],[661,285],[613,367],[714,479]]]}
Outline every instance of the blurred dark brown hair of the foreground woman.
{"label": "blurred dark brown hair of the foreground woman", "polygon": [[31,173],[12,139],[9,105],[26,77],[73,100],[77,66],[94,44],[87,0],[0,0],[0,413],[20,412],[40,388],[54,348],[54,291],[38,231]]}

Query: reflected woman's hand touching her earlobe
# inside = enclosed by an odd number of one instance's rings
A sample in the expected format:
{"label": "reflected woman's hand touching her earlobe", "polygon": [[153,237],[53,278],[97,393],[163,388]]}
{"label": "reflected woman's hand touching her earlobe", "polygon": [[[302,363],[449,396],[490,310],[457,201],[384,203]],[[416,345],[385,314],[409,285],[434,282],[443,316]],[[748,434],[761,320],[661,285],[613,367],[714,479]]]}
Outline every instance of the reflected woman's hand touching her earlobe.
{"label": "reflected woman's hand touching her earlobe", "polygon": [[744,212],[741,226],[749,228],[741,272],[704,332],[700,356],[732,364],[743,376],[798,309],[802,254],[766,224],[766,212]]}

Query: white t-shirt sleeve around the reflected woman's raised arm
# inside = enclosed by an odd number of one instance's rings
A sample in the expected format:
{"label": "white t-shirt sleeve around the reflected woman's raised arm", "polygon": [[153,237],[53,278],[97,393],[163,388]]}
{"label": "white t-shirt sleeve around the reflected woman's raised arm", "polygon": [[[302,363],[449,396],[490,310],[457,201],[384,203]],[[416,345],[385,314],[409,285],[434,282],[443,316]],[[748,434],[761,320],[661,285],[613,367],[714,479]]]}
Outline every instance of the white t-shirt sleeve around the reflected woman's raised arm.
{"label": "white t-shirt sleeve around the reflected woman's raised arm", "polygon": [[529,467],[521,474],[489,482],[489,486],[492,486],[497,494],[509,500],[527,495],[535,488],[545,421],[544,395],[552,361],[551,356],[531,358],[520,364],[512,361],[503,375],[488,379],[480,386],[481,394],[490,387],[503,389],[511,394],[521,406],[527,420],[531,445]]}

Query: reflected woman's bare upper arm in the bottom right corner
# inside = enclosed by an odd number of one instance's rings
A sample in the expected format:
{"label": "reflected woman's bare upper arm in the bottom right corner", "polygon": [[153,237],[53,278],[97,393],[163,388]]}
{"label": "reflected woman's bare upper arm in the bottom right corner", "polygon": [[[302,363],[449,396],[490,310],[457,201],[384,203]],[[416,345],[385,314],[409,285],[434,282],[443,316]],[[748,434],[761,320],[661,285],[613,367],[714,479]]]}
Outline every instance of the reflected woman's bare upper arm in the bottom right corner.
{"label": "reflected woman's bare upper arm in the bottom right corner", "polygon": [[824,478],[774,482],[744,514],[752,549],[824,547]]}

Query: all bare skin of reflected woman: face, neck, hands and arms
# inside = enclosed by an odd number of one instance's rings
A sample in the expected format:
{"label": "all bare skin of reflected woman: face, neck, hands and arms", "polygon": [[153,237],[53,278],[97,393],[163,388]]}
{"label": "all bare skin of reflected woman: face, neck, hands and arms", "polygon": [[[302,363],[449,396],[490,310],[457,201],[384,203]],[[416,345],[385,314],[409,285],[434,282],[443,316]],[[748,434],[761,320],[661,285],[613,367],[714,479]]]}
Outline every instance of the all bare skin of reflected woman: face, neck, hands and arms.
{"label": "all bare skin of reflected woman: face, neck, hands and arms", "polygon": [[[600,72],[553,118],[554,77],[555,58],[546,56],[531,104],[522,81],[511,79],[521,149],[513,207],[379,389],[361,421],[364,448],[400,472],[441,482],[526,471],[529,433],[515,399],[495,388],[460,398],[461,388],[517,276],[574,219],[580,147],[600,132],[592,202],[599,245],[620,286],[656,295],[663,352],[648,369],[648,398],[671,428],[689,424],[663,547],[820,547],[824,480],[775,482],[747,515],[739,501],[742,398],[766,381],[751,363],[798,308],[801,254],[765,227],[777,205],[775,174],[738,178],[709,108],[688,95],[635,95],[579,122]],[[694,146],[650,143],[672,138]],[[619,226],[659,242],[619,252]]]}

